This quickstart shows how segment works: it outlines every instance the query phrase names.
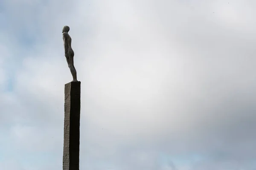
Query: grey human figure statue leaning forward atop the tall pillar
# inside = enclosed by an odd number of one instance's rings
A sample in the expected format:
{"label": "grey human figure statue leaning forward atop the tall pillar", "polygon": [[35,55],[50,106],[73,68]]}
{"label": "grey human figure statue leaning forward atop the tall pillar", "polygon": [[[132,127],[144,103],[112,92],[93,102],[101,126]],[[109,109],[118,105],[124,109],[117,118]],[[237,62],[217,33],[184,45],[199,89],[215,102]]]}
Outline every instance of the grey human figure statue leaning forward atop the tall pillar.
{"label": "grey human figure statue leaning forward atop the tall pillar", "polygon": [[67,59],[67,65],[70,68],[70,72],[73,76],[73,81],[72,82],[77,82],[76,68],[74,66],[74,51],[71,48],[71,37],[68,34],[69,30],[70,30],[69,26],[64,26],[63,29],[62,29],[63,42],[64,42],[64,51],[65,51],[65,57]]}

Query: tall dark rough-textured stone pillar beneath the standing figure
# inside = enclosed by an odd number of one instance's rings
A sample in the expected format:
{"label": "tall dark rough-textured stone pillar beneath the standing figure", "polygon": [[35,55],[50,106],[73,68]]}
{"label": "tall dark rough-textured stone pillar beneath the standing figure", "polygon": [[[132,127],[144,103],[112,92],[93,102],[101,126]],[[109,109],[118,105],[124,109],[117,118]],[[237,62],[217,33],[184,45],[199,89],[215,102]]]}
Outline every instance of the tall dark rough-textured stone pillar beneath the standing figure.
{"label": "tall dark rough-textured stone pillar beneath the standing figure", "polygon": [[63,170],[79,170],[81,82],[65,84]]}

